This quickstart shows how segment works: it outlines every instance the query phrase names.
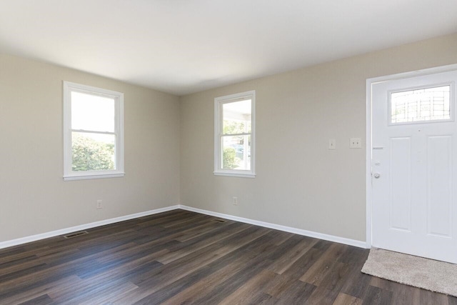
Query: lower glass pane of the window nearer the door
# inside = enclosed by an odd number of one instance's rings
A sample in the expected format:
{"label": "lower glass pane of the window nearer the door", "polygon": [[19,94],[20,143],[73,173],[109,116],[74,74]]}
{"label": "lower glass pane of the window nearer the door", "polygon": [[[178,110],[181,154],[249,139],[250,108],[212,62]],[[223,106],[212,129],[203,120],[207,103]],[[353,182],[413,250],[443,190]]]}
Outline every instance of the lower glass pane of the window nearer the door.
{"label": "lower glass pane of the window nearer the door", "polygon": [[222,136],[222,169],[251,170],[251,136]]}

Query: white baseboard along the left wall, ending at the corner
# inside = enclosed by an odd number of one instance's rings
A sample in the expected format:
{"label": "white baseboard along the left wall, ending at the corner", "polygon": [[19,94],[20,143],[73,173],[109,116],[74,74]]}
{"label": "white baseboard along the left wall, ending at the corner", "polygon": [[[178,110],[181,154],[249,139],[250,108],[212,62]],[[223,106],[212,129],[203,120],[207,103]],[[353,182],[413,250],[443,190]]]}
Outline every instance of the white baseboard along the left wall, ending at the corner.
{"label": "white baseboard along the left wall, ending at the corner", "polygon": [[152,214],[158,214],[158,213],[162,213],[162,212],[165,212],[165,211],[171,211],[171,210],[175,210],[175,209],[179,209],[179,205],[167,206],[167,207],[161,208],[161,209],[155,209],[155,210],[151,210],[151,211],[144,211],[144,212],[141,212],[141,213],[130,214],[130,215],[126,215],[126,216],[120,216],[120,217],[116,217],[116,218],[112,218],[112,219],[105,219],[105,220],[101,220],[101,221],[91,222],[90,224],[81,224],[81,226],[71,226],[70,228],[51,231],[51,232],[46,232],[46,233],[43,233],[43,234],[36,234],[36,235],[32,235],[32,236],[26,236],[26,237],[23,237],[21,239],[13,239],[11,241],[3,241],[3,242],[0,242],[0,249],[8,248],[10,246],[17,246],[17,245],[20,245],[20,244],[26,244],[26,243],[29,243],[31,241],[39,241],[40,239],[47,239],[49,237],[69,234],[69,233],[76,232],[76,231],[82,231],[82,230],[86,230],[86,229],[91,229],[91,228],[95,228],[96,226],[104,226],[106,224],[114,224],[114,223],[120,222],[120,221],[126,221],[126,220],[135,219],[135,218],[139,218],[139,217],[143,217],[143,216],[149,216],[149,215],[152,215]]}

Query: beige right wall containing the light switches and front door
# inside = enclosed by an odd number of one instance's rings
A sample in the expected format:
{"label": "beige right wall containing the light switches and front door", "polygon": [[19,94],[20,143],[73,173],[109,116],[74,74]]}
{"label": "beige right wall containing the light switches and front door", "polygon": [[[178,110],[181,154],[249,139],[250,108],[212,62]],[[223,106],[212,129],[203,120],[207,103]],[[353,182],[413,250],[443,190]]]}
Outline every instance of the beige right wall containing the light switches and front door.
{"label": "beige right wall containing the light switches and front door", "polygon": [[[454,34],[181,97],[181,204],[365,241],[366,79],[456,63]],[[257,176],[214,176],[214,98],[248,90]]]}

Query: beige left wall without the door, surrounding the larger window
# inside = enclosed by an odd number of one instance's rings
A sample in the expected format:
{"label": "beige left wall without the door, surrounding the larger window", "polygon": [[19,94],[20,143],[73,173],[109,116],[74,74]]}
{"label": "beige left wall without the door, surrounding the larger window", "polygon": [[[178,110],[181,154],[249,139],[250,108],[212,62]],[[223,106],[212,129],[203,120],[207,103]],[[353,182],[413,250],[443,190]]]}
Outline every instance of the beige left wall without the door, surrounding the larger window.
{"label": "beige left wall without the door, surrounding the larger window", "polygon": [[[63,181],[64,80],[124,92],[124,178]],[[0,146],[0,242],[179,204],[170,94],[0,54]]]}

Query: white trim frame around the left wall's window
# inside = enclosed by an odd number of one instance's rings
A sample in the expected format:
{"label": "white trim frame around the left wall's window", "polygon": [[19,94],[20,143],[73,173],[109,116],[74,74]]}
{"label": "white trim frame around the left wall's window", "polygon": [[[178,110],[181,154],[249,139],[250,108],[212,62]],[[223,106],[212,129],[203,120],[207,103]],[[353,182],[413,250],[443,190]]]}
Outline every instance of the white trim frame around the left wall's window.
{"label": "white trim frame around the left wall's window", "polygon": [[[71,91],[106,96],[115,101],[116,169],[111,171],[72,171]],[[117,91],[64,81],[64,181],[123,177],[124,173],[124,94]]]}

